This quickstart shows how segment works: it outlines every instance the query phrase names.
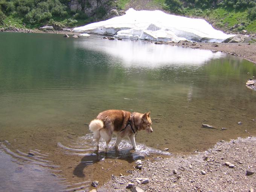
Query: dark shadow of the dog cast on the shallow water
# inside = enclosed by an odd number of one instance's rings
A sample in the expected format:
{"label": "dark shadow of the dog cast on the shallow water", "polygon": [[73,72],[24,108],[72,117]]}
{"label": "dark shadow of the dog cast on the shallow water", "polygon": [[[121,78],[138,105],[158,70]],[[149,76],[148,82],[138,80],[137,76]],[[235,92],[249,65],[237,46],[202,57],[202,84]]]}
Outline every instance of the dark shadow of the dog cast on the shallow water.
{"label": "dark shadow of the dog cast on the shallow water", "polygon": [[94,151],[81,159],[81,162],[75,167],[73,174],[77,177],[85,177],[84,168],[93,163],[97,163],[102,159],[121,159],[126,160],[128,163],[132,163],[138,159],[144,159],[145,157],[134,152],[134,149],[122,149],[111,150],[105,153],[105,151]]}

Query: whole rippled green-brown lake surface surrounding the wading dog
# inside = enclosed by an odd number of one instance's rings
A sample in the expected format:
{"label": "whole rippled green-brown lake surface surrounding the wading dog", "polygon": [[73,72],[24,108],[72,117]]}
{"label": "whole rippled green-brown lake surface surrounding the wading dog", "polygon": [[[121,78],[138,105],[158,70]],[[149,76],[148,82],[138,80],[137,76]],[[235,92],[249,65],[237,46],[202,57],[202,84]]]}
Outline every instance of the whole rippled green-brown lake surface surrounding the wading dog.
{"label": "whole rippled green-brown lake surface surrounding the wading dog", "polygon": [[[189,153],[256,134],[256,92],[245,87],[253,63],[209,50],[62,36],[0,33],[0,190],[87,189],[138,158],[168,155],[164,148]],[[103,142],[94,152],[88,124],[107,109],[151,111],[154,132],[138,133],[140,151],[123,141],[119,152],[106,156]]]}

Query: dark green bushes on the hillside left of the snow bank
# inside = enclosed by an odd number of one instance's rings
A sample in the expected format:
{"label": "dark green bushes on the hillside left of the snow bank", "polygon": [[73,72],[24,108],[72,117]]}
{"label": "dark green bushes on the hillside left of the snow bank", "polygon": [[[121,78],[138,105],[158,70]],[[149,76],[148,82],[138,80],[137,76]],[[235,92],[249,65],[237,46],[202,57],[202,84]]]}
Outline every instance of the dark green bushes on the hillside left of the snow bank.
{"label": "dark green bushes on the hillside left of the snow bank", "polygon": [[[0,26],[55,29],[91,21],[82,11],[71,11],[70,0],[0,0]],[[99,12],[101,12],[100,10]]]}

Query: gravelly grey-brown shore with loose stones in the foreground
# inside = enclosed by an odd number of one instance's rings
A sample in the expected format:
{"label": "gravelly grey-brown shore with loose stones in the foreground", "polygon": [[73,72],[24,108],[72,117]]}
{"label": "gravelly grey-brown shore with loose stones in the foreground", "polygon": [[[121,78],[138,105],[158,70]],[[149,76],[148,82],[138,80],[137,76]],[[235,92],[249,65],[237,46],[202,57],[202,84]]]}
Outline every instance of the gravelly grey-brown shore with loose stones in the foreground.
{"label": "gravelly grey-brown shore with loose stones in the foreground", "polygon": [[[107,191],[256,191],[256,137],[219,141],[205,151],[142,162],[130,175],[112,175]],[[96,189],[101,191],[101,189]]]}

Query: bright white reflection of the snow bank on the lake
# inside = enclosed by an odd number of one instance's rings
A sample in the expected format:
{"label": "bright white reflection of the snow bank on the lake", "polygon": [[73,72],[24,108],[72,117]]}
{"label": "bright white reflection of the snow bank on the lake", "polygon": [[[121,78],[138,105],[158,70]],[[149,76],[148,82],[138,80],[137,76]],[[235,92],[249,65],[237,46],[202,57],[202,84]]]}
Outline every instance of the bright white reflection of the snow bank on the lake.
{"label": "bright white reflection of the snow bank on the lake", "polygon": [[155,45],[143,41],[88,41],[82,39],[74,42],[76,47],[107,53],[122,60],[125,67],[163,67],[170,64],[200,66],[214,58],[224,57],[224,53],[210,50],[184,49],[169,45]]}

